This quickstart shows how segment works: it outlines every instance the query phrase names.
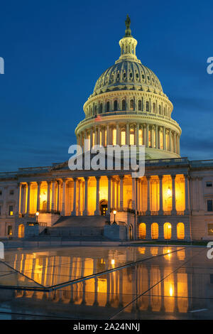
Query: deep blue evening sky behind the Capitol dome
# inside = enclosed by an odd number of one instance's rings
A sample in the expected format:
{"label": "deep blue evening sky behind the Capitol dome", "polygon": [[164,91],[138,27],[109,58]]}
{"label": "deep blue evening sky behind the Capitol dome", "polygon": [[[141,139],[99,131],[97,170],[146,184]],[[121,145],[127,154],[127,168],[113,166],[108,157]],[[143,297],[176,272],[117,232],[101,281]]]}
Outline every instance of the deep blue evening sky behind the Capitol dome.
{"label": "deep blue evening sky behind the Capitol dome", "polygon": [[126,14],[190,159],[213,158],[212,1],[1,1],[0,171],[69,158],[83,104],[119,58]]}

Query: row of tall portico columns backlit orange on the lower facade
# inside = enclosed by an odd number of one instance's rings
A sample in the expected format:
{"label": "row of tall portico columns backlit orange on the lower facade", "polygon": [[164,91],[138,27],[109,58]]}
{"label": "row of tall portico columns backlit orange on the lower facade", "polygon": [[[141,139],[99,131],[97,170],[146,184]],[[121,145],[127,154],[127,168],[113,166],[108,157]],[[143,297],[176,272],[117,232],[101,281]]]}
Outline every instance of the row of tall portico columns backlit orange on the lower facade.
{"label": "row of tall portico columns backlit orange on the lower facade", "polygon": [[[172,198],[173,198],[173,208],[172,215],[175,215],[175,175],[172,175]],[[107,176],[108,178],[108,208],[107,215],[110,215],[111,208],[117,208],[119,210],[124,209],[124,176],[117,176],[116,180],[113,176]],[[160,186],[160,210],[158,215],[163,215],[163,185],[162,179],[163,176],[158,176],[159,186]],[[84,210],[83,215],[88,215],[88,179],[89,177],[84,177]],[[151,176],[146,176],[147,179],[147,210],[146,215],[151,215],[151,199],[150,199],[150,179]],[[61,215],[65,215],[65,196],[66,196],[66,184],[68,178],[64,178],[61,181],[47,181],[48,183],[48,195],[47,195],[47,211],[57,210],[60,211]],[[82,181],[73,178],[74,182],[74,193],[73,193],[73,210],[71,215],[80,214],[80,208],[77,212],[77,201],[80,203],[81,200],[81,190],[82,190]],[[96,210],[95,215],[100,215],[99,210],[99,190],[100,190],[100,176],[96,176],[97,187],[96,187]],[[50,188],[52,183],[52,201],[50,203]],[[58,193],[57,199],[55,198],[55,185],[58,183]],[[77,183],[79,186],[78,198],[77,198]],[[38,192],[37,192],[37,211],[40,210],[40,184],[41,181],[37,182]],[[30,213],[30,198],[31,198],[31,183],[28,182],[28,191],[27,191],[27,208],[26,213]],[[120,187],[119,187],[120,185]],[[18,213],[21,212],[21,188],[23,184],[20,184],[19,194],[18,194]],[[62,203],[60,203],[60,187],[62,186]],[[55,201],[57,200],[57,203]],[[132,209],[141,211],[141,200],[142,200],[142,179],[141,178],[132,178]],[[185,175],[185,214],[189,213],[189,185],[188,185],[188,176]]]}

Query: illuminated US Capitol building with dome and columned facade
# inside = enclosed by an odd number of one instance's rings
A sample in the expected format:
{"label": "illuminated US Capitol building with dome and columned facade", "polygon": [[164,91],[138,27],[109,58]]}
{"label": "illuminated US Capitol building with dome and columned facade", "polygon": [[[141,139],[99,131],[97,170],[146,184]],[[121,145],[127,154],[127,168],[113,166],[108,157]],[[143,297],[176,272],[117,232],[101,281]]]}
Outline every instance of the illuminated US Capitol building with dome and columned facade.
{"label": "illuminated US Capitol building with dome and columned facade", "polygon": [[173,104],[138,60],[129,16],[119,45],[75,134],[84,152],[95,144],[144,145],[145,176],[124,168],[71,171],[67,161],[0,173],[1,238],[213,239],[213,160],[180,156]]}

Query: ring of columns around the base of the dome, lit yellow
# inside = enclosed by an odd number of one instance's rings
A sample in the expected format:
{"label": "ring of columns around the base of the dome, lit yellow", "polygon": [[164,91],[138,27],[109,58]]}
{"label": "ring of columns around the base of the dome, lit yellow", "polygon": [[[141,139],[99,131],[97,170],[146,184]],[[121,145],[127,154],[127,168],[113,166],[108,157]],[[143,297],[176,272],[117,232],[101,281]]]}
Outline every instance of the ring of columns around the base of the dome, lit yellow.
{"label": "ring of columns around the base of the dome, lit yellow", "polygon": [[[116,139],[114,139],[114,134]],[[125,143],[121,138],[121,132],[125,132]],[[140,133],[142,131],[142,133]],[[162,149],[165,151],[173,151],[173,153],[180,154],[180,135],[167,129],[165,126],[158,126],[153,124],[136,124],[132,127],[127,123],[126,126],[121,124],[107,125],[107,126],[94,126],[89,131],[86,129],[77,135],[77,144],[84,146],[84,139],[90,140],[90,149],[93,144],[100,146],[107,145],[130,145],[130,136],[133,134],[133,144],[137,147],[144,145],[146,148],[151,147],[153,149]],[[93,140],[94,138],[94,140]],[[123,141],[123,142],[122,142]],[[89,148],[84,148],[89,149]]]}

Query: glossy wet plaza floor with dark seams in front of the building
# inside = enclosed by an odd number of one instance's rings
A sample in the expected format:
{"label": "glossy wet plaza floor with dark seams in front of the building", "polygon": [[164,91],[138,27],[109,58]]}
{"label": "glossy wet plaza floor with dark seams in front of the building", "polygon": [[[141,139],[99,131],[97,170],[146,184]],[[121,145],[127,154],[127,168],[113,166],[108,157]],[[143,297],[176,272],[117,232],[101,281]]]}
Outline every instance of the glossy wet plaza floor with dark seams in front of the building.
{"label": "glossy wet plaza floor with dark seams in front of the building", "polygon": [[213,319],[206,247],[6,251],[0,319]]}

